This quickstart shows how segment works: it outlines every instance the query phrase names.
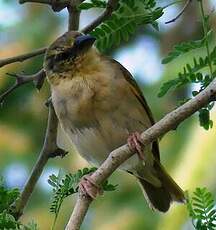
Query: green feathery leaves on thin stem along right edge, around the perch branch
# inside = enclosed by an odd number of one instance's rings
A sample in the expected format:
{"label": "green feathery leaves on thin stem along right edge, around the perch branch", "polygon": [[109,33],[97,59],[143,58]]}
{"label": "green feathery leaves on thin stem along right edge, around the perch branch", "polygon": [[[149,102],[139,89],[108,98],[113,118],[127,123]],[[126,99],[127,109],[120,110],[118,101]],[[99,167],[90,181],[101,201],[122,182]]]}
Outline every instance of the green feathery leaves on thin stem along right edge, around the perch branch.
{"label": "green feathery leaves on thin stem along right edge, around the perch branch", "polygon": [[[198,93],[203,91],[216,76],[216,46],[212,49],[212,51],[210,51],[209,48],[209,40],[212,36],[212,30],[209,29],[208,25],[209,15],[206,16],[204,14],[202,1],[199,1],[199,4],[203,20],[203,38],[197,41],[183,42],[174,46],[173,51],[171,51],[168,56],[162,60],[162,64],[167,64],[189,51],[202,48],[204,46],[207,54],[205,57],[194,57],[193,63],[187,63],[183,67],[183,71],[178,73],[177,78],[165,82],[160,89],[158,94],[159,97],[164,96],[172,88],[176,89],[181,86],[187,86],[188,84],[198,84],[199,90],[192,91],[192,96],[196,96]],[[208,69],[208,72],[206,72],[206,69]],[[213,122],[210,119],[210,110],[213,105],[214,103],[210,103],[199,110],[200,126],[206,130],[212,128],[213,126]]]}

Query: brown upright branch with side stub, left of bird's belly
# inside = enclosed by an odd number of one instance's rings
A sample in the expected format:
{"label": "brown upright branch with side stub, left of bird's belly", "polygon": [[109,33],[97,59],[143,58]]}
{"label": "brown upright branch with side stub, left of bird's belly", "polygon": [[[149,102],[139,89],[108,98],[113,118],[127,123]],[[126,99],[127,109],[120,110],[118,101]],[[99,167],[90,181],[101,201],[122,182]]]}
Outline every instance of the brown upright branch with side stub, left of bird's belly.
{"label": "brown upright branch with side stub, left of bird's belly", "polygon": [[39,154],[39,158],[34,168],[32,169],[31,175],[29,176],[29,179],[27,180],[24,186],[21,196],[16,201],[15,207],[13,207],[14,209],[13,212],[17,218],[19,218],[23,214],[24,207],[27,205],[28,200],[35,188],[38,179],[41,176],[43,168],[46,165],[48,159],[54,156],[63,157],[67,154],[67,152],[60,149],[56,144],[57,127],[58,127],[58,119],[56,117],[52,103],[50,103],[44,145]]}

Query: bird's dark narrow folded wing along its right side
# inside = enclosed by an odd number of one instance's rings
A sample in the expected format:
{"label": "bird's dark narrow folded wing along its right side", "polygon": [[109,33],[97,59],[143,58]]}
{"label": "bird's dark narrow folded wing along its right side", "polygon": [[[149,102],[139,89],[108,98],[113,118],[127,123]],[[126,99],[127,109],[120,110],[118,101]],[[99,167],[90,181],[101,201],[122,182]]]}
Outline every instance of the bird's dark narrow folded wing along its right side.
{"label": "bird's dark narrow folded wing along its right side", "polygon": [[[122,66],[119,62],[117,62],[116,60],[110,59],[110,61],[112,63],[114,63],[115,65],[117,65],[118,68],[121,70],[122,75],[124,76],[126,81],[130,84],[131,91],[136,96],[136,98],[139,100],[139,102],[142,104],[145,113],[148,114],[148,117],[151,121],[151,124],[153,125],[155,123],[155,121],[154,121],[152,112],[151,112],[151,110],[150,110],[150,108],[146,102],[146,99],[144,98],[139,86],[137,85],[136,81],[133,79],[130,72],[124,66]],[[154,156],[158,160],[160,160],[160,151],[159,151],[158,141],[154,141],[152,143],[152,152],[153,152]]]}

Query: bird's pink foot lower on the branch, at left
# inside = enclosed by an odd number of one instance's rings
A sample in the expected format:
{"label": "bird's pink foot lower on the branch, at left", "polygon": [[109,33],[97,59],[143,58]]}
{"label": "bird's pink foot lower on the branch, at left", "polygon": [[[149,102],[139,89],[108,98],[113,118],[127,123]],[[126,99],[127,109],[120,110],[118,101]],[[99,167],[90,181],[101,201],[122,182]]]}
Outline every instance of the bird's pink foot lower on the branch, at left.
{"label": "bird's pink foot lower on the branch, at left", "polygon": [[79,183],[79,189],[84,195],[95,199],[97,195],[102,195],[103,191],[91,178],[90,174],[82,177]]}

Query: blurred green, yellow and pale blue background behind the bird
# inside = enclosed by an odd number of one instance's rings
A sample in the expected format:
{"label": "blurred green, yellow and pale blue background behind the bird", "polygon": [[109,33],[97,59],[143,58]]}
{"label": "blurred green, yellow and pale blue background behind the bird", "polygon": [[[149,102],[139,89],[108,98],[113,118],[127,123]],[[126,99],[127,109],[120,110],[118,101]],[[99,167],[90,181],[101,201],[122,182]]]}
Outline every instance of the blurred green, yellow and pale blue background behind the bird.
{"label": "blurred green, yellow and pale blue background behind the bird", "polygon": [[[166,5],[169,1],[158,1]],[[180,11],[182,5],[165,10],[159,20],[160,32],[151,27],[137,31],[136,35],[121,47],[109,51],[109,55],[120,61],[138,81],[152,108],[156,120],[174,109],[178,101],[190,96],[191,88],[183,88],[169,93],[164,98],[157,94],[162,82],[176,77],[181,66],[190,61],[194,53],[163,66],[161,58],[171,47],[181,41],[202,37],[202,26],[196,1],[175,23],[165,25]],[[216,7],[215,0],[205,1],[209,12]],[[81,15],[80,27],[84,26],[98,11],[86,11]],[[216,29],[216,14],[212,14],[211,25]],[[40,4],[19,5],[18,1],[0,0],[0,58],[22,54],[50,44],[67,30],[67,12],[54,13],[50,7]],[[195,55],[205,50],[196,50]],[[31,74],[38,71],[43,57],[23,63],[12,64],[0,69],[0,91],[13,83],[7,72]],[[32,84],[13,92],[0,108],[0,175],[8,187],[22,188],[41,149],[46,128],[47,108],[44,102],[49,97],[49,86],[38,92]],[[212,110],[212,120],[216,121],[216,111]],[[164,166],[184,189],[193,191],[195,187],[206,186],[216,192],[215,180],[215,134],[214,127],[205,131],[199,127],[197,115],[187,119],[177,131],[169,132],[160,141],[161,158]],[[51,159],[31,197],[22,217],[27,223],[32,219],[41,230],[50,229],[54,216],[49,212],[51,188],[48,176],[58,174],[59,169],[73,172],[88,166],[63,138],[60,145],[70,150],[63,159]],[[130,175],[116,172],[110,180],[119,184],[117,191],[99,197],[89,209],[82,230],[189,230],[193,229],[186,208],[174,204],[166,214],[151,211],[142,192]],[[76,197],[68,198],[60,212],[56,229],[64,229],[69,219]]]}

